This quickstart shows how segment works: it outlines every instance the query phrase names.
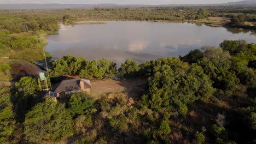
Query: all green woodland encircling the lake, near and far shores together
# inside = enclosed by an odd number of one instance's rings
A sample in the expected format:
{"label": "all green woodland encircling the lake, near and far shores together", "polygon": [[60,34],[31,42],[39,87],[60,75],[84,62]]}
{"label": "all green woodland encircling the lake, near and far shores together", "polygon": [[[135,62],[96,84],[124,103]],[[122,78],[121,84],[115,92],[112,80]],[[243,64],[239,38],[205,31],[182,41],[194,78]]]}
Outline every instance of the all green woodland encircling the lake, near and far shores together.
{"label": "all green woodland encircling the lake, near and far shores together", "polygon": [[255,29],[255,13],[250,6],[0,10],[0,81],[15,82],[0,86],[0,143],[255,143],[256,44],[245,40],[198,47],[179,58],[128,59],[119,68],[104,58],[64,56],[49,63],[53,82],[62,76],[147,80],[129,93],[97,99],[79,92],[65,101],[42,99],[37,76],[16,73],[44,59],[45,35],[60,22],[225,17],[222,26]]}

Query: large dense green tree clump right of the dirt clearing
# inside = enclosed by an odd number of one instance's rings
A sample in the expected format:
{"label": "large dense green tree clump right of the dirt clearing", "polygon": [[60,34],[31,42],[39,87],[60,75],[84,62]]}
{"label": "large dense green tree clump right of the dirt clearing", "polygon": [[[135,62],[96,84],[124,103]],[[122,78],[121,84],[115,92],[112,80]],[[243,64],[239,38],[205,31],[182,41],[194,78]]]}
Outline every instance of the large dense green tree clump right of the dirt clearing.
{"label": "large dense green tree clump right of the dirt clearing", "polygon": [[184,75],[182,73],[175,75],[174,73],[180,70],[176,67],[171,68],[176,59],[168,59],[168,61],[171,66],[165,64],[155,67],[155,74],[149,77],[148,95],[151,109],[159,110],[171,104],[184,107],[184,104],[211,97],[215,89],[200,66],[193,64],[185,70]]}

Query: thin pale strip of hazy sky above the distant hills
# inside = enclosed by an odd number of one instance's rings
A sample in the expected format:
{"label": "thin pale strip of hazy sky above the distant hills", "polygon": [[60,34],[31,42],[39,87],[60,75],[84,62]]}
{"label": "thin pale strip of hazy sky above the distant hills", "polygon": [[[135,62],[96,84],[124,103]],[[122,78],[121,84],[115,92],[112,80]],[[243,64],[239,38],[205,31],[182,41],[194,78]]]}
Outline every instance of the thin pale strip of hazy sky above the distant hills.
{"label": "thin pale strip of hazy sky above the distant hills", "polygon": [[208,4],[238,2],[243,0],[0,0],[0,4],[15,3],[62,3],[62,4]]}

